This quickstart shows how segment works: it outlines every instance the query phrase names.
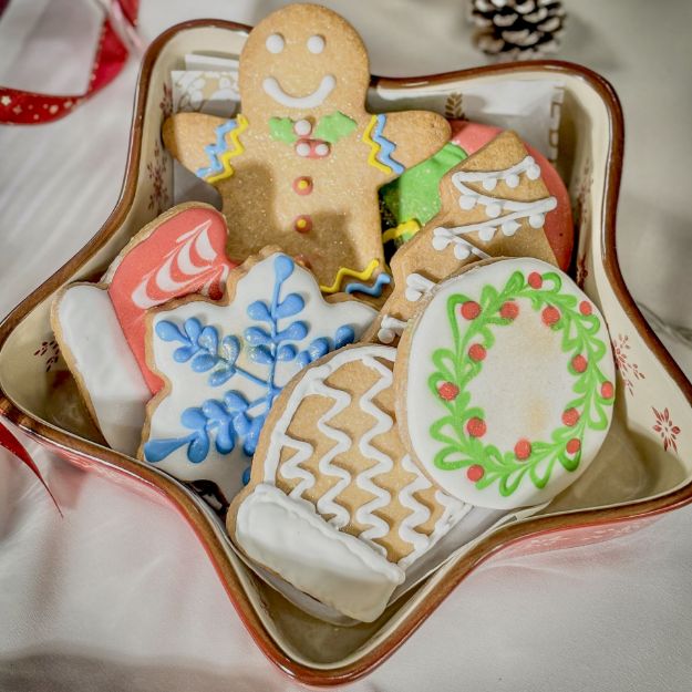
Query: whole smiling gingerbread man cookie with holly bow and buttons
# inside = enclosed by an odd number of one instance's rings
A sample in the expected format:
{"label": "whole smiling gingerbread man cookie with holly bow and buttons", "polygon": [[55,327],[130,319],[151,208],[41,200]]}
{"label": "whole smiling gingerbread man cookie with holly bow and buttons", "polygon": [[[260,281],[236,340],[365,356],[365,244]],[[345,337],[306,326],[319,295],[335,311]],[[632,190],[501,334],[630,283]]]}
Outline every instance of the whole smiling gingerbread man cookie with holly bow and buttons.
{"label": "whole smiling gingerbread man cookie with holly bow and buttons", "polygon": [[450,126],[426,112],[372,115],[365,48],[341,17],[290,4],[262,20],[240,55],[242,113],[179,113],[164,124],[173,155],[216,186],[228,254],[279,245],[332,295],[381,295],[378,188],[426,158]]}

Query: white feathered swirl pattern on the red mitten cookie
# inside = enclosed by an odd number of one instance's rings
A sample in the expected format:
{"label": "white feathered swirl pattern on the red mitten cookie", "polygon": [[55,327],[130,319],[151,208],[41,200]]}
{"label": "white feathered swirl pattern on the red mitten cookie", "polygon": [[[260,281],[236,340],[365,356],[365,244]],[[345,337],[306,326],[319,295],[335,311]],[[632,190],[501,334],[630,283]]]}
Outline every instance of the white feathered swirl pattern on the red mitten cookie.
{"label": "white feathered swirl pattern on the red mitten cookie", "polygon": [[[146,310],[161,304],[163,300],[172,298],[173,295],[179,293],[189,286],[195,277],[213,268],[210,264],[217,258],[217,252],[209,240],[208,230],[210,225],[211,220],[207,219],[196,228],[185,231],[175,241],[175,247],[165,256],[164,264],[158,269],[152,269],[144,275],[142,281],[132,292],[132,301],[137,308]],[[193,249],[208,264],[196,265],[190,256]],[[174,265],[185,277],[183,281],[176,281],[173,278]],[[211,285],[225,280],[227,276],[228,267],[224,267],[218,278],[213,276],[204,285],[202,292],[208,295]],[[151,288],[169,293],[169,296],[163,300],[162,298],[153,298],[149,293]]]}

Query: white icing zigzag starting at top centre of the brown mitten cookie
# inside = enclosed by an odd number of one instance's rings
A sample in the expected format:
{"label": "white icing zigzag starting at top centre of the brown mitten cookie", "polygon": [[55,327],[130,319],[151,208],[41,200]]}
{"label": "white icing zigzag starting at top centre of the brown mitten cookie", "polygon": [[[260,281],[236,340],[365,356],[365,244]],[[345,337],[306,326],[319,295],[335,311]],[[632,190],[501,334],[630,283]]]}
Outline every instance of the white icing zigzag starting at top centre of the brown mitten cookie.
{"label": "white icing zigzag starting at top centre of the brown mitten cookie", "polygon": [[372,479],[374,476],[392,471],[394,462],[390,456],[384,454],[384,452],[374,447],[372,445],[372,440],[378,435],[382,435],[383,433],[392,430],[394,421],[391,415],[375,405],[373,399],[380,392],[383,392],[392,385],[393,378],[392,371],[386,365],[380,363],[376,359],[365,357],[362,362],[368,368],[374,370],[380,376],[378,378],[378,381],[362,395],[359,402],[361,411],[375,419],[375,424],[368,432],[363,433],[358,447],[365,458],[374,459],[376,464],[360,473],[355,477],[355,484],[359,488],[371,493],[375,497],[357,509],[355,520],[365,526],[370,525],[370,528],[366,528],[360,535],[360,538],[370,543],[375,549],[386,554],[386,550],[381,545],[372,541],[374,538],[382,538],[383,536],[386,536],[390,531],[390,525],[384,521],[384,519],[375,516],[373,512],[382,509],[382,507],[386,507],[392,502],[392,496],[388,490],[375,485]]}

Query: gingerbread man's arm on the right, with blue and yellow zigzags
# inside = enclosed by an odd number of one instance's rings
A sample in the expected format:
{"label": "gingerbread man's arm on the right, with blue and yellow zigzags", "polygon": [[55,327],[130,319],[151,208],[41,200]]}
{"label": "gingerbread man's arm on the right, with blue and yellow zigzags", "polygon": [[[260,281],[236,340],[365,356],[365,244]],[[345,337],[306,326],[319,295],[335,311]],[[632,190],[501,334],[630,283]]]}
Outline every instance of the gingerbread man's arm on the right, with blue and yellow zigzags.
{"label": "gingerbread man's arm on the right, with blue and yellow zigzags", "polygon": [[[376,117],[382,117],[382,115]],[[394,148],[389,155],[391,173],[380,168],[385,174],[381,178],[381,184],[401,175],[403,169],[415,166],[415,164],[431,157],[450,141],[450,123],[436,113],[427,111],[386,113],[384,118],[380,138],[393,144]],[[373,127],[372,134],[375,135],[376,132],[376,128]],[[376,142],[378,138],[373,138]],[[384,147],[381,147],[378,153],[380,161],[383,159],[383,152]]]}

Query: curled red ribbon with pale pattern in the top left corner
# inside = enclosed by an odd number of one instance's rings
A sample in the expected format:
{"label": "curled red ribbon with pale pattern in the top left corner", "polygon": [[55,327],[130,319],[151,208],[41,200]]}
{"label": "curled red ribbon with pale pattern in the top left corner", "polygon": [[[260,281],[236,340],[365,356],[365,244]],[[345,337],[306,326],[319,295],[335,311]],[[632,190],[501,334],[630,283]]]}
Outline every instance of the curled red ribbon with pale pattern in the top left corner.
{"label": "curled red ribbon with pale pattern in the top left corner", "polygon": [[[138,0],[113,0],[101,33],[89,81],[83,94],[38,94],[0,86],[0,124],[42,125],[64,117],[72,110],[112,82],[127,62],[128,49],[114,29],[113,20],[123,19],[130,29],[137,21]],[[126,32],[125,32],[126,33]]]}

